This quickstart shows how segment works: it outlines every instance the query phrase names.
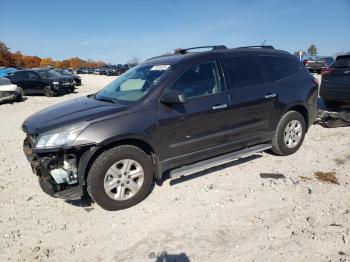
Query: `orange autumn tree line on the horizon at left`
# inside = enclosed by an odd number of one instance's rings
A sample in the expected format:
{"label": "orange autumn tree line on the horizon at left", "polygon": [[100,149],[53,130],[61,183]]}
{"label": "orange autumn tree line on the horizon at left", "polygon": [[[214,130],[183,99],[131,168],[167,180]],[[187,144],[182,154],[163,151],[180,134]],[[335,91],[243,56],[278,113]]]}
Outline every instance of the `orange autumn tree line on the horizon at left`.
{"label": "orange autumn tree line on the horizon at left", "polygon": [[51,57],[40,58],[38,56],[24,55],[20,51],[12,53],[5,43],[0,41],[0,66],[16,68],[55,67],[55,68],[79,68],[79,67],[102,67],[103,61],[84,60],[73,57],[66,60],[53,60]]}

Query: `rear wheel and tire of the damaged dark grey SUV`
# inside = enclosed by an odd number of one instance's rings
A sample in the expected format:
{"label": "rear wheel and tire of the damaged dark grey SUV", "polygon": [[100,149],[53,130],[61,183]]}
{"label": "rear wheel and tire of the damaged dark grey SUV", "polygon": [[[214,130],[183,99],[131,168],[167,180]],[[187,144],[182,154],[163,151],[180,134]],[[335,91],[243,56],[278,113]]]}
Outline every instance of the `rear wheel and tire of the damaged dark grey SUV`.
{"label": "rear wheel and tire of the damaged dark grey SUV", "polygon": [[297,111],[288,111],[277,125],[272,151],[281,156],[294,154],[301,147],[305,133],[304,117]]}

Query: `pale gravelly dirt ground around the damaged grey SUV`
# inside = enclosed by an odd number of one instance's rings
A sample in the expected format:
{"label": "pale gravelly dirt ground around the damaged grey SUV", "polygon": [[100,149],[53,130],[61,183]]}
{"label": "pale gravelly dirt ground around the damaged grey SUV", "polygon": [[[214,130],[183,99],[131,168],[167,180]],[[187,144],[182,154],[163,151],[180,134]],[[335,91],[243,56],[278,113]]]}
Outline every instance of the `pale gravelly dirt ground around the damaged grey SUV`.
{"label": "pale gravelly dirt ground around the damaged grey SUV", "polygon": [[166,180],[119,212],[43,193],[22,152],[23,120],[112,79],[83,76],[77,94],[0,105],[0,261],[350,260],[350,127],[312,126],[295,155]]}

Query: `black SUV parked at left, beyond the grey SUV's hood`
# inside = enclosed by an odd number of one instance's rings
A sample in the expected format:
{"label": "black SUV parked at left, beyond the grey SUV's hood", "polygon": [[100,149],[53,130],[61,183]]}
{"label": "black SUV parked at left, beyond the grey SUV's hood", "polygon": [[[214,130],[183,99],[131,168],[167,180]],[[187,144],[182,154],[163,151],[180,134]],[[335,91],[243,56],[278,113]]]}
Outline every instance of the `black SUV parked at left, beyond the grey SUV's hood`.
{"label": "black SUV parked at left, beyond the grey SUV's hood", "polygon": [[74,81],[54,70],[18,70],[9,76],[18,86],[21,95],[44,94],[45,96],[62,95],[74,91]]}

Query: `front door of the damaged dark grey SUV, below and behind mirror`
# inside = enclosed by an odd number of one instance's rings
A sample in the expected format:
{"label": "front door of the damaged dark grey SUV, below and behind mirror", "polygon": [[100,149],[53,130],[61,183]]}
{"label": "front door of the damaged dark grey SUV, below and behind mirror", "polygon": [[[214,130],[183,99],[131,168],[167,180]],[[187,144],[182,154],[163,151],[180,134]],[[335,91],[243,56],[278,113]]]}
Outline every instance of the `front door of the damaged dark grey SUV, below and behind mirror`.
{"label": "front door of the damaged dark grey SUV, below and behind mirror", "polygon": [[228,141],[229,99],[216,61],[188,68],[165,92],[168,90],[183,93],[187,102],[159,104],[165,158],[181,158]]}

